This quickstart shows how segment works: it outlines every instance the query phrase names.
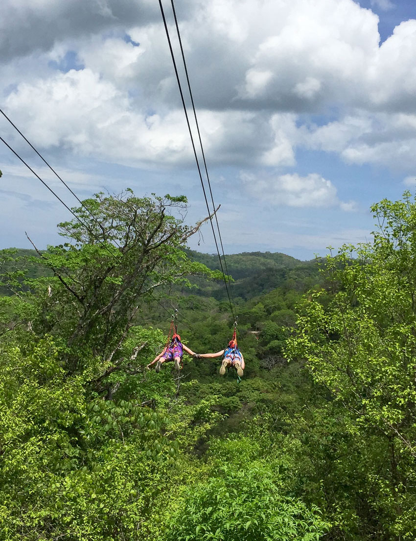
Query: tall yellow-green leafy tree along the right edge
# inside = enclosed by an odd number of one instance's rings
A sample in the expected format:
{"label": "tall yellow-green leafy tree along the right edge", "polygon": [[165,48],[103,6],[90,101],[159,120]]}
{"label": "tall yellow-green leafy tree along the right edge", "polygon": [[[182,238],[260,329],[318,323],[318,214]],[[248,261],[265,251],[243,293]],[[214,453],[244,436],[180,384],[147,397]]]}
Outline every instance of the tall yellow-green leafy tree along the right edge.
{"label": "tall yellow-green leafy tree along the right edge", "polygon": [[325,292],[304,300],[287,354],[306,359],[314,380],[346,411],[351,434],[377,439],[385,466],[371,482],[383,539],[413,539],[416,204],[406,192],[372,210],[379,224],[373,243],[327,257],[331,300]]}

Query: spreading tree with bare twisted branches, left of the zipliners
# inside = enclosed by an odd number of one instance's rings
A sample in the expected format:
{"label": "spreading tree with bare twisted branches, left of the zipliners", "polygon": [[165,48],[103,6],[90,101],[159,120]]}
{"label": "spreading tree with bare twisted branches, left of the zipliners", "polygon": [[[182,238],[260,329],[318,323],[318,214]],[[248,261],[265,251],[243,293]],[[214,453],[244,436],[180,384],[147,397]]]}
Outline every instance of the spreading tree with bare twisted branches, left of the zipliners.
{"label": "spreading tree with bare twisted branches, left of the zipliners", "polygon": [[79,220],[58,225],[69,242],[38,250],[53,276],[24,279],[21,270],[0,276],[33,307],[33,332],[50,333],[69,348],[69,371],[90,350],[106,364],[117,362],[139,307],[156,288],[189,284],[190,275],[219,276],[185,255],[187,239],[204,220],[184,224],[183,196],[97,194],[73,212]]}

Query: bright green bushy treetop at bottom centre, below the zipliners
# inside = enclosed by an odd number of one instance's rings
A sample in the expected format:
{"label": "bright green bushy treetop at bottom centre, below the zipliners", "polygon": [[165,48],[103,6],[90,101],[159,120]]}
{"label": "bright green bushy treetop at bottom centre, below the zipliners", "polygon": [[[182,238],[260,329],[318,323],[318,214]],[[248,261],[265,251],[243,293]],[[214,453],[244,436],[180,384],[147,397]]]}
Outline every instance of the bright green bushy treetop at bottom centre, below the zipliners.
{"label": "bright green bushy treetop at bottom centre, below the zipliners", "polygon": [[278,470],[259,454],[247,438],[213,444],[209,476],[184,490],[166,541],[318,540],[327,524],[317,507],[287,496]]}

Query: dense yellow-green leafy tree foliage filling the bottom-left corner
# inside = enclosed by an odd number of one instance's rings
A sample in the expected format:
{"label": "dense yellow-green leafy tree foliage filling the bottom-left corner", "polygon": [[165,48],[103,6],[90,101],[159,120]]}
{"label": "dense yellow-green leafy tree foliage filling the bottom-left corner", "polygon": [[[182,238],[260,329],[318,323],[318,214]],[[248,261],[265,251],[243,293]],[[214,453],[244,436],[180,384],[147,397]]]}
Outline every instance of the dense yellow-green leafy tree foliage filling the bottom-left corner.
{"label": "dense yellow-green leafy tree foliage filling the bottom-left corner", "polygon": [[[155,337],[142,338],[149,356]],[[51,337],[0,352],[0,539],[146,538],[149,486],[167,490],[179,458],[163,409],[126,388],[116,402],[89,393],[89,371],[69,377]],[[139,374],[147,398],[152,376]]]}

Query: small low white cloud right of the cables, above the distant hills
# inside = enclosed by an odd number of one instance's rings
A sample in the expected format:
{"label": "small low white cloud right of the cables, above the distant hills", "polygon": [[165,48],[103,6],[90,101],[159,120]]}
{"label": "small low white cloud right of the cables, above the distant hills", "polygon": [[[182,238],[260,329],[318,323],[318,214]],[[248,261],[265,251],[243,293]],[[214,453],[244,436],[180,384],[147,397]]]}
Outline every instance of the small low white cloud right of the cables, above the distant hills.
{"label": "small low white cloud right of the cables, above the distant hills", "polygon": [[337,189],[331,181],[317,173],[307,176],[286,174],[278,176],[241,173],[247,191],[258,199],[267,200],[272,206],[328,208],[339,206],[342,210],[355,210],[355,203],[338,200]]}

